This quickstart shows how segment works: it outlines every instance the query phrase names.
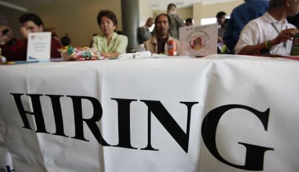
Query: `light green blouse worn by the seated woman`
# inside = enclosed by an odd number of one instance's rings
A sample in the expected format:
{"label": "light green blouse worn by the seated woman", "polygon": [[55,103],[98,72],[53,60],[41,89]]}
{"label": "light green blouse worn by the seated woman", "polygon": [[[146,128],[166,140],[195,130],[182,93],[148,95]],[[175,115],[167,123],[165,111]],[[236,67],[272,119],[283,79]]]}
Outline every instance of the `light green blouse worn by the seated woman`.
{"label": "light green blouse worn by the seated woman", "polygon": [[114,32],[109,45],[107,45],[107,39],[103,34],[100,36],[93,36],[92,40],[92,47],[96,48],[96,50],[99,50],[100,52],[126,53],[128,38],[124,35]]}

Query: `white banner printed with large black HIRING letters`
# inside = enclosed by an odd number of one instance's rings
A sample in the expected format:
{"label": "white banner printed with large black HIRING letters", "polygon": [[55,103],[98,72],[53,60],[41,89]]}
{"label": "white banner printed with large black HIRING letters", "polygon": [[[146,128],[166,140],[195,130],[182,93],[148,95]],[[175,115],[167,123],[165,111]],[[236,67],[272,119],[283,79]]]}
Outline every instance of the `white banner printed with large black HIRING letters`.
{"label": "white banner printed with large black HIRING letters", "polygon": [[299,171],[298,73],[218,55],[2,65],[0,171]]}

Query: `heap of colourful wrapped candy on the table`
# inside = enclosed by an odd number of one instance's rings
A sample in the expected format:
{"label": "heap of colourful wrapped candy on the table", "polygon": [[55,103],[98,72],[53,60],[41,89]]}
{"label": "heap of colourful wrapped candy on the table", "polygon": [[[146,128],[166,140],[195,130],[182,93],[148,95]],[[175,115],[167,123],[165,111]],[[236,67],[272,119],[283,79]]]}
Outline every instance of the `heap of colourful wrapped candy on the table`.
{"label": "heap of colourful wrapped candy on the table", "polygon": [[96,61],[103,58],[100,52],[92,47],[65,46],[59,51],[64,61]]}

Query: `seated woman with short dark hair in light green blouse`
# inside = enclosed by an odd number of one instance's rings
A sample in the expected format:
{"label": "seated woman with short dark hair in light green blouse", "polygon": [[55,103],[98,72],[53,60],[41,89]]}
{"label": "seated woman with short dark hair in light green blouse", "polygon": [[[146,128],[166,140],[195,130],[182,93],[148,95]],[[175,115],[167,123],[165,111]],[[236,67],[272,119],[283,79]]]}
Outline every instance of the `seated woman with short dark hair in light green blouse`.
{"label": "seated woman with short dark hair in light green blouse", "polygon": [[105,58],[117,57],[126,53],[128,38],[115,32],[118,20],[110,10],[102,10],[98,14],[98,25],[102,35],[93,36],[92,47],[100,51]]}

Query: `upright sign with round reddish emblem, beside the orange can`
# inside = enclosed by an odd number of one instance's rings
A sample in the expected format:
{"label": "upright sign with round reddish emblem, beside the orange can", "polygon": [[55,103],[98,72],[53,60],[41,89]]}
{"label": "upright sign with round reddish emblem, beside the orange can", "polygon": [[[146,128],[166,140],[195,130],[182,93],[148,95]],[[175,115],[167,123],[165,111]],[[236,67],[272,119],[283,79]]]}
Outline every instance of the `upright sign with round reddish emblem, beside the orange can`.
{"label": "upright sign with round reddish emblem, beside the orange can", "polygon": [[217,54],[217,34],[217,24],[179,28],[179,54],[182,56]]}

